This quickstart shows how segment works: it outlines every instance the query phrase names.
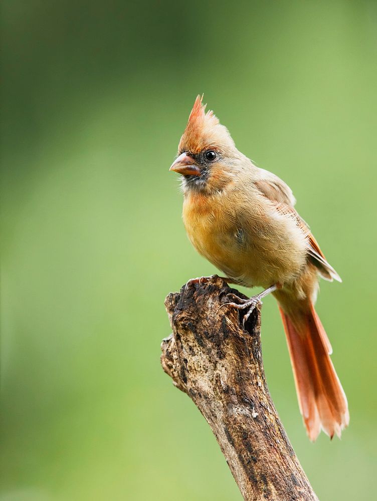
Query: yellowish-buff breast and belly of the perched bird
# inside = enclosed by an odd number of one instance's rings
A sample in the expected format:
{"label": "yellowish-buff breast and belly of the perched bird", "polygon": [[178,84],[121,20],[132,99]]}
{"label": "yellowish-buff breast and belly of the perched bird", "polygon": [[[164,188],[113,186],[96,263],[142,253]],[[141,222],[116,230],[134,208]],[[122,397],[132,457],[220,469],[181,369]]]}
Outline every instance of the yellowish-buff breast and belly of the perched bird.
{"label": "yellowish-buff breast and belly of the perched bird", "polygon": [[305,260],[305,243],[295,223],[258,205],[245,211],[227,202],[185,199],[183,222],[198,252],[246,286],[267,287],[296,276]]}

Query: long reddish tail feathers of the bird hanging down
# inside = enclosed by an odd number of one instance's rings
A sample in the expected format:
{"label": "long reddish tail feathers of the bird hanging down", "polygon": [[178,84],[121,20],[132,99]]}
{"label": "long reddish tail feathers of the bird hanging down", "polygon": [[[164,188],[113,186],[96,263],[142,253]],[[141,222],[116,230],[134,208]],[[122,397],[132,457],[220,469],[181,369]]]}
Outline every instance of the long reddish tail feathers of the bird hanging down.
{"label": "long reddish tail feathers of the bird hanging down", "polygon": [[331,345],[313,305],[306,313],[281,307],[300,411],[310,440],[324,430],[339,437],[348,425],[347,399],[330,360]]}

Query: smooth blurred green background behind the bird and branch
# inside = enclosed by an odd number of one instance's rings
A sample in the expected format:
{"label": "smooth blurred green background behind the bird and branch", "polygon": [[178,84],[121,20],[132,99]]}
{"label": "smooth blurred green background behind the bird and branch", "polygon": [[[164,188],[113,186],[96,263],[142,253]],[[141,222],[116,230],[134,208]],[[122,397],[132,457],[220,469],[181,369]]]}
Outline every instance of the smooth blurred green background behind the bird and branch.
{"label": "smooth blurred green background behind the bird and branch", "polygon": [[202,92],[343,278],[317,308],[341,441],[306,438],[273,298],[264,360],[320,499],[373,499],[375,2],[5,0],[2,36],[2,501],[241,499],[159,365],[165,295],[216,272],[168,172]]}

